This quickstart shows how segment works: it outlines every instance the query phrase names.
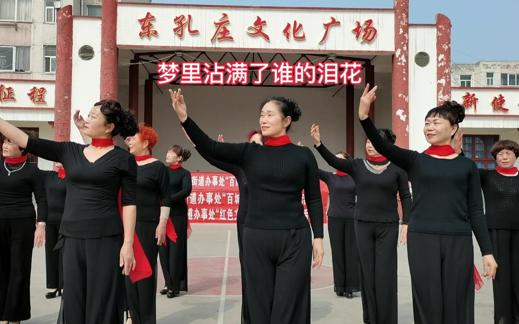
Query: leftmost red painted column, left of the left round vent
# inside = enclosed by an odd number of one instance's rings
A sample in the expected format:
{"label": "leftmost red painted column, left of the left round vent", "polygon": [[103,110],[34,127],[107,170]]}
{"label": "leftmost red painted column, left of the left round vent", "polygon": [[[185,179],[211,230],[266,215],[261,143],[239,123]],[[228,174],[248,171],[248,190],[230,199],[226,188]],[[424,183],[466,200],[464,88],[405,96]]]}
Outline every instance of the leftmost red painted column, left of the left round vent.
{"label": "leftmost red painted column, left of the left round vent", "polygon": [[70,140],[72,94],[72,6],[57,14],[56,82],[54,87],[54,140]]}

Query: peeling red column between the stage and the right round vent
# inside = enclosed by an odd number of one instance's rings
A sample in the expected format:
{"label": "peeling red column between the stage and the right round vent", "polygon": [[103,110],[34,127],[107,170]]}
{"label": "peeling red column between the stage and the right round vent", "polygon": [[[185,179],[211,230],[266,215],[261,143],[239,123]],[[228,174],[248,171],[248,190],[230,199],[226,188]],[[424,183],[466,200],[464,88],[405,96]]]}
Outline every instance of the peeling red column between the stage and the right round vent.
{"label": "peeling red column between the stage and the right round vent", "polygon": [[397,146],[409,148],[409,0],[394,0],[392,129]]}

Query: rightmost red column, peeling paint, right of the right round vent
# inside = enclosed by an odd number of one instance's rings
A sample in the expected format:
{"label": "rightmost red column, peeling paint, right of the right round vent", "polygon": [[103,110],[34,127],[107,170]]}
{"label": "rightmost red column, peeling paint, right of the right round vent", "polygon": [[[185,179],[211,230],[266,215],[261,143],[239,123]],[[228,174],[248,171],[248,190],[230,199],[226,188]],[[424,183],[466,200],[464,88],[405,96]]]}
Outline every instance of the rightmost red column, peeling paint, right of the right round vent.
{"label": "rightmost red column, peeling paint, right of the right round vent", "polygon": [[436,90],[438,105],[450,100],[450,20],[436,15]]}

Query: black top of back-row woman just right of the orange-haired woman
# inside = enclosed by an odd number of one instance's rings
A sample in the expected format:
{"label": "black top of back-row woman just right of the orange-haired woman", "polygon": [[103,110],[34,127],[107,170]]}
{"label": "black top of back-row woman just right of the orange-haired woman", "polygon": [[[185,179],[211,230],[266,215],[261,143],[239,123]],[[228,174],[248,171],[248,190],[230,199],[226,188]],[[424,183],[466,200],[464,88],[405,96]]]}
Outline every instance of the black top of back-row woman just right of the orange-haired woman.
{"label": "black top of back-row woman just right of the orange-haired woman", "polygon": [[193,184],[191,173],[185,168],[169,168],[169,190],[171,192],[171,209],[169,215],[187,215],[186,198],[191,194]]}

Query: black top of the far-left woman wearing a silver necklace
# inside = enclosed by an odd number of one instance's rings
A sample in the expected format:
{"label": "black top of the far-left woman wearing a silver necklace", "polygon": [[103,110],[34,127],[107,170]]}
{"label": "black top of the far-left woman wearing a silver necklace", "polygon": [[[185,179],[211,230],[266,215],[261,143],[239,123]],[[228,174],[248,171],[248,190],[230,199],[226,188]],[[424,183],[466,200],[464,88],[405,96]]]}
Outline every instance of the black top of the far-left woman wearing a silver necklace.
{"label": "black top of the far-left woman wearing a silver necklace", "polygon": [[[47,221],[47,194],[43,177],[37,166],[25,162],[20,164],[0,165],[0,218],[33,218],[36,223],[36,211],[32,195],[38,208],[38,221]],[[6,168],[11,171],[11,175]],[[18,171],[15,171],[18,170]]]}

